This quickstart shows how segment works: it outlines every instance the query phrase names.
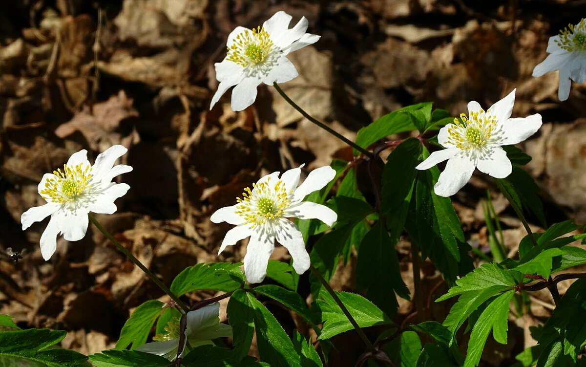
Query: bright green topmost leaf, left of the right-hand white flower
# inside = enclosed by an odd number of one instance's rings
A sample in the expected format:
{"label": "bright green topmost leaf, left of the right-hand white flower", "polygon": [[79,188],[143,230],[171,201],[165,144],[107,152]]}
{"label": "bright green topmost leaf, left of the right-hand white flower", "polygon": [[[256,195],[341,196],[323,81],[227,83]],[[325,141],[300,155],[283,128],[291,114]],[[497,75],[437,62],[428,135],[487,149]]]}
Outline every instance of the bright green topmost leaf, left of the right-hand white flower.
{"label": "bright green topmost leaf, left of the right-hand white flower", "polygon": [[[363,127],[358,131],[358,134],[356,135],[356,144],[360,145],[362,148],[368,148],[373,142],[387,137],[388,135],[416,130],[411,115],[406,112],[427,108],[431,108],[430,102],[403,107],[378,118],[372,124]],[[354,155],[357,154],[358,152],[355,149]]]}

